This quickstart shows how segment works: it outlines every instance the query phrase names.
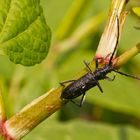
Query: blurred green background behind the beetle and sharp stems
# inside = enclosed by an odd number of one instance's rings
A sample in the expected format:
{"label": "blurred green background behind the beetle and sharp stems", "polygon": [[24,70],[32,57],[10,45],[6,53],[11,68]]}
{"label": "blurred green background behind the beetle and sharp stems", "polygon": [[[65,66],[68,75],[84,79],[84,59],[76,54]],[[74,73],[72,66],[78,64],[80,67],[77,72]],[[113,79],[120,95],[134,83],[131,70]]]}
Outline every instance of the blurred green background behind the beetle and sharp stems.
{"label": "blurred green background behind the beetle and sharp stems", "polygon": [[[41,0],[46,21],[52,29],[52,46],[60,42],[55,36],[58,27],[73,1]],[[92,60],[104,30],[110,0],[89,0],[70,28],[71,33],[84,21],[105,13],[97,30],[81,40],[69,51],[52,58],[53,51],[39,65],[15,65],[0,56],[0,84],[4,93],[6,111],[11,117],[33,99],[41,96],[60,81],[72,79],[84,65]],[[127,5],[130,9],[135,3]],[[132,13],[127,16],[119,43],[118,55],[140,41],[140,31],[134,29],[140,21]],[[57,50],[57,49],[56,49]],[[57,54],[57,53],[56,53]],[[121,70],[140,76],[140,56],[129,61]],[[140,81],[117,75],[115,81],[102,81],[104,93],[95,87],[87,92],[82,108],[68,103],[37,126],[24,140],[139,140],[140,139]]]}

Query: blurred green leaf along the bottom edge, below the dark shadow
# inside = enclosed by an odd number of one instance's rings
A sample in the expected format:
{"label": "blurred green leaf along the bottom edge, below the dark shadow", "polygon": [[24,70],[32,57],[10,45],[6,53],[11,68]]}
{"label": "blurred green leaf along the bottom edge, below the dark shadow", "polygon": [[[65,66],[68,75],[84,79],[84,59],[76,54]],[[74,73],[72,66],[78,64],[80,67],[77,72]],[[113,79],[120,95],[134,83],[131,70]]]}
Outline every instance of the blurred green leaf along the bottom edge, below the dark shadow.
{"label": "blurred green leaf along the bottom edge, below the dark shadow", "polygon": [[[38,135],[40,134],[40,135]],[[24,140],[138,140],[140,131],[130,126],[112,126],[86,121],[44,122]]]}

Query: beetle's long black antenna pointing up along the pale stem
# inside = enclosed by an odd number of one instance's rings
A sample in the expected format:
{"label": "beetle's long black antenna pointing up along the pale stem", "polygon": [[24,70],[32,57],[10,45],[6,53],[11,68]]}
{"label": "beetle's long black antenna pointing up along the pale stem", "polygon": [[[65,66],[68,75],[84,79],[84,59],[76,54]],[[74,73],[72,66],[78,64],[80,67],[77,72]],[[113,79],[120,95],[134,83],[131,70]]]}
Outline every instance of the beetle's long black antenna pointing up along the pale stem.
{"label": "beetle's long black antenna pointing up along the pale stem", "polygon": [[115,44],[115,48],[114,48],[114,51],[110,57],[110,60],[109,60],[109,64],[108,65],[111,65],[112,64],[112,59],[113,59],[113,56],[116,52],[116,49],[117,49],[117,46],[118,46],[118,43],[119,43],[119,36],[120,36],[120,26],[119,26],[119,17],[118,17],[118,13],[116,12],[116,19],[117,19],[117,41],[116,41],[116,44]]}

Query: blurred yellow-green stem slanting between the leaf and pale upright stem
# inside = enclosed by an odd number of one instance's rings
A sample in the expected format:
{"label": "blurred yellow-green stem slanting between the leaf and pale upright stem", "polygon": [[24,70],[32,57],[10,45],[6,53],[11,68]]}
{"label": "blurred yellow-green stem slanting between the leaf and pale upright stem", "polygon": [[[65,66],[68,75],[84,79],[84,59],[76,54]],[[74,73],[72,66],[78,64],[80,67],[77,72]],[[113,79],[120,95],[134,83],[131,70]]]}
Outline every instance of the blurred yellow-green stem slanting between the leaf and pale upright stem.
{"label": "blurred yellow-green stem slanting between the leaf and pale upright stem", "polygon": [[66,52],[74,48],[77,44],[82,42],[85,38],[93,35],[101,25],[105,18],[104,13],[91,17],[87,21],[83,22],[66,40],[58,44],[61,53]]}

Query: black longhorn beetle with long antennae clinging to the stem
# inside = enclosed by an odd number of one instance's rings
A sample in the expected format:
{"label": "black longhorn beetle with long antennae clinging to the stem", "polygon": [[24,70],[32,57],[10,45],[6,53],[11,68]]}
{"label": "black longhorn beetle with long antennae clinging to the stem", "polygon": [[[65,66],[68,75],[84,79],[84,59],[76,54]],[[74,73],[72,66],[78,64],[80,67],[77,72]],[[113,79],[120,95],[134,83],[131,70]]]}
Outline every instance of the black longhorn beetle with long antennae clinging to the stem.
{"label": "black longhorn beetle with long antennae clinging to the stem", "polygon": [[[76,104],[77,106],[81,107],[84,101],[84,97],[85,97],[85,93],[87,90],[89,90],[92,87],[98,86],[99,90],[101,92],[103,92],[102,87],[99,84],[99,80],[103,80],[103,79],[107,79],[109,81],[113,81],[115,79],[115,76],[111,79],[107,76],[108,73],[114,71],[116,73],[119,73],[121,75],[127,76],[127,77],[131,77],[137,80],[140,80],[139,77],[133,76],[133,75],[129,75],[129,74],[125,74],[123,72],[118,71],[117,69],[115,69],[113,67],[113,63],[112,63],[112,59],[114,57],[114,54],[116,52],[117,46],[118,46],[118,42],[119,42],[119,17],[118,14],[116,14],[116,20],[117,20],[117,41],[115,44],[115,48],[114,51],[109,59],[108,64],[106,64],[104,67],[99,68],[99,62],[98,62],[98,58],[95,58],[95,62],[96,62],[96,69],[95,71],[92,71],[91,68],[89,67],[89,64],[87,62],[84,61],[84,64],[86,66],[86,68],[88,69],[88,73],[86,73],[85,75],[83,75],[81,78],[77,79],[77,80],[69,80],[69,81],[64,81],[61,82],[60,84],[62,86],[65,86],[66,83],[70,83],[63,91],[61,94],[61,98],[62,99],[68,99],[71,102],[73,102],[74,104]],[[74,98],[81,96],[82,98],[80,100],[80,103],[77,104],[75,101],[73,101]]]}

